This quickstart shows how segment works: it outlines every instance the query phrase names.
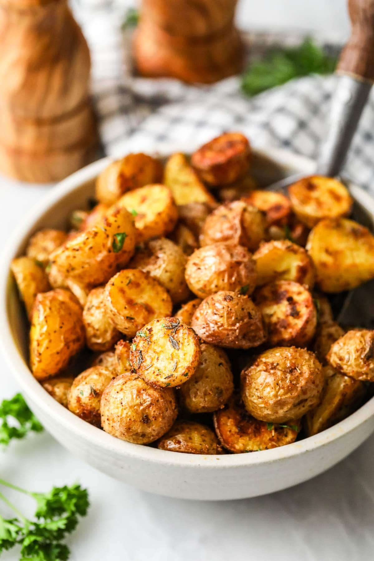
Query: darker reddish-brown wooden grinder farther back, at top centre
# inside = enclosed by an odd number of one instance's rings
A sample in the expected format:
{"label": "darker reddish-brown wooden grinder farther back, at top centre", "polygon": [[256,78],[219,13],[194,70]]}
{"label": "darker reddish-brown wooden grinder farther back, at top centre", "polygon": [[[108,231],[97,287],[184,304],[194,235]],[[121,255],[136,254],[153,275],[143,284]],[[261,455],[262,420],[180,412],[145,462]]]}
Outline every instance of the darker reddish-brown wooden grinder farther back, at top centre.
{"label": "darker reddish-brown wooden grinder farther back, at top centre", "polygon": [[243,44],[237,0],[142,0],[134,40],[138,72],[209,84],[236,74]]}

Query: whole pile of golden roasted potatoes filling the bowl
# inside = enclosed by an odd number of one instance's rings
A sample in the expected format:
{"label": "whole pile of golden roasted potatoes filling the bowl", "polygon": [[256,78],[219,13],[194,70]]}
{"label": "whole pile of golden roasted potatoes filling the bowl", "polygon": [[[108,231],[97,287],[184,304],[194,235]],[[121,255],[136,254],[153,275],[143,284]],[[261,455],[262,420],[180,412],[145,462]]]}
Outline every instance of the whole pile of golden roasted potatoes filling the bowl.
{"label": "whole pile of golden roasted potatoes filling the bowl", "polygon": [[128,442],[223,454],[316,434],[367,399],[374,331],[338,325],[326,297],[374,278],[374,237],[340,181],[261,190],[229,132],[191,158],[128,154],[95,196],[11,266],[30,369],[72,413]]}

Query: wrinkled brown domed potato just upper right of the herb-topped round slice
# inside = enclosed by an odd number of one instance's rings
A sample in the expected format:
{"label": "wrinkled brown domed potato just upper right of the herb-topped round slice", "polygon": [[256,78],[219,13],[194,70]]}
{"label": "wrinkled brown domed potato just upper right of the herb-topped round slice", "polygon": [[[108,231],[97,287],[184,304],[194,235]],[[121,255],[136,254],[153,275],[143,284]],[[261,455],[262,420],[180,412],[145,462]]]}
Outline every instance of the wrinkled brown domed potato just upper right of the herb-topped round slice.
{"label": "wrinkled brown domed potato just upper right of the herb-topped round slice", "polygon": [[238,292],[221,291],[205,298],[193,314],[191,327],[202,341],[220,347],[248,349],[266,339],[260,310]]}

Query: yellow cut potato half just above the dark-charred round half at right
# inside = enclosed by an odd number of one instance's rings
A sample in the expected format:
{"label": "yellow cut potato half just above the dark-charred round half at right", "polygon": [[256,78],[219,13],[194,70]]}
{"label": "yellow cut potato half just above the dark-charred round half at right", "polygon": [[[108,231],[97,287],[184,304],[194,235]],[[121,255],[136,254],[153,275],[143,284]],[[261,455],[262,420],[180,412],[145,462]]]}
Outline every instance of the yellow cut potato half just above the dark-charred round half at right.
{"label": "yellow cut potato half just above the dark-charred round half at right", "polygon": [[294,280],[312,288],[315,269],[303,247],[287,240],[272,240],[262,243],[253,254],[257,268],[257,284],[268,284],[275,280]]}

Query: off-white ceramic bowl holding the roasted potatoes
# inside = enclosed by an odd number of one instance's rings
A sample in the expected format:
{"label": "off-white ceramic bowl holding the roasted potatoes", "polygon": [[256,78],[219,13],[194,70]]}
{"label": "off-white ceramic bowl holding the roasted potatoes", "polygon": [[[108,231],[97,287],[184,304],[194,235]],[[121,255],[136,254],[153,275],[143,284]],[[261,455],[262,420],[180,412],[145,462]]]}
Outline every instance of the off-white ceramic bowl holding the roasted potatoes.
{"label": "off-white ceramic bowl holding the roasted potatoes", "polygon": [[[191,148],[195,147],[186,147],[186,151]],[[274,160],[276,167],[279,164],[283,172],[313,171],[311,160],[286,151],[267,150],[263,154]],[[200,456],[118,440],[59,405],[33,378],[27,366],[25,315],[8,273],[11,259],[24,252],[28,238],[36,230],[66,226],[70,212],[84,206],[87,196],[93,194],[93,180],[107,163],[103,159],[81,169],[45,196],[22,220],[1,261],[3,355],[45,429],[72,453],[120,481],[152,493],[186,499],[241,499],[272,493],[306,481],[348,456],[374,431],[374,398],[331,429],[300,442],[250,454]],[[371,197],[358,187],[350,188],[355,199],[373,213]]]}

